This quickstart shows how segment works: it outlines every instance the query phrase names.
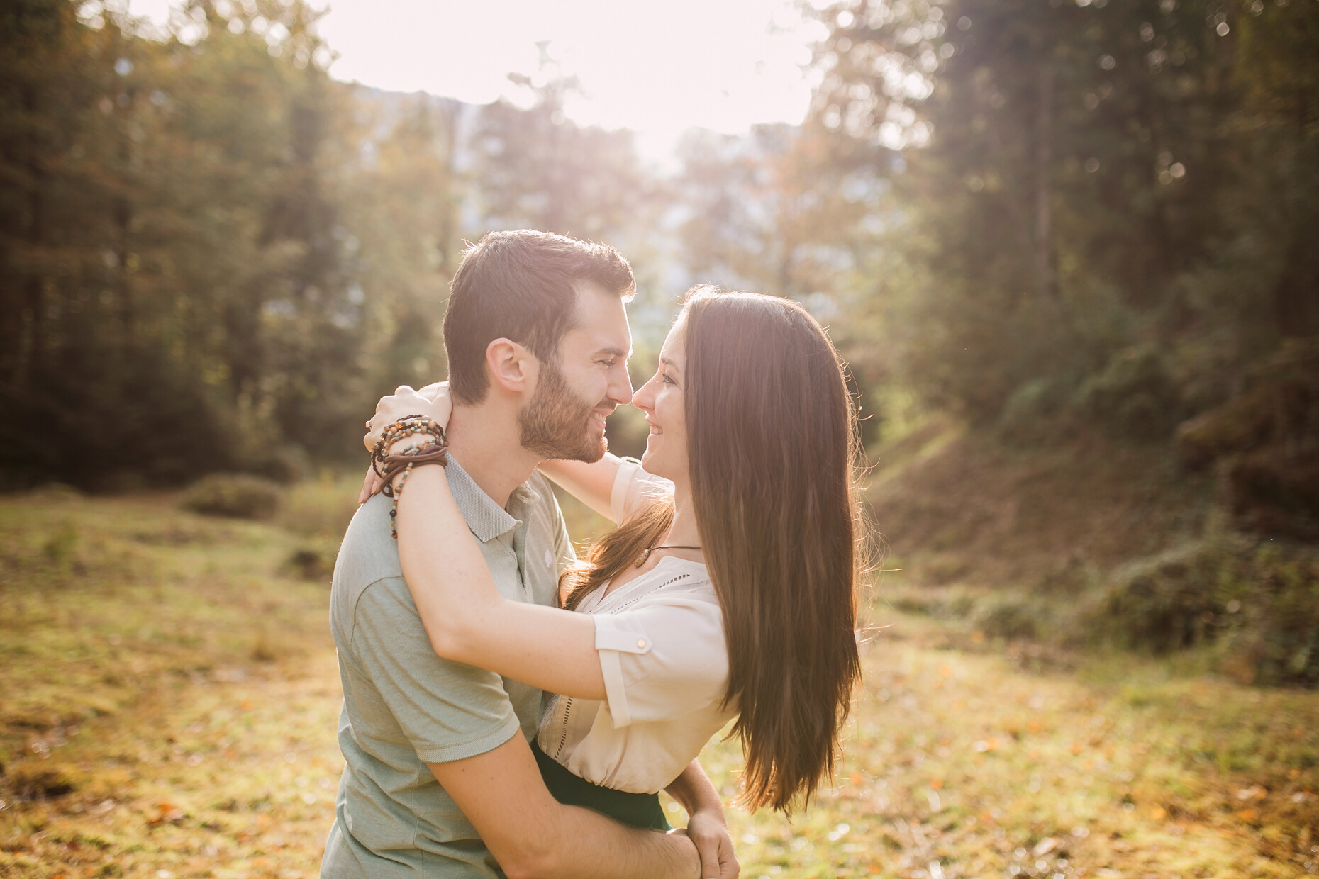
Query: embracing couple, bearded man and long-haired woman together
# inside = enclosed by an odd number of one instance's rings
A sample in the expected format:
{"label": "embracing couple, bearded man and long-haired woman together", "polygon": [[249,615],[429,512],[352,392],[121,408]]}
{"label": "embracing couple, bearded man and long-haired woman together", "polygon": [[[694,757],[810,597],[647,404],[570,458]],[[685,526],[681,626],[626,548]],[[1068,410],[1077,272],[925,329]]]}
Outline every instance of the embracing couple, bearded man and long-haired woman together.
{"label": "embracing couple, bearded man and long-haired woman together", "polygon": [[[751,808],[832,770],[860,676],[838,356],[790,300],[696,289],[633,391],[633,290],[609,246],[487,235],[454,275],[447,385],[368,423],[324,879],[729,879],[710,737],[733,722]],[[627,403],[640,463],[605,452]],[[617,523],[584,560],[549,480]]]}

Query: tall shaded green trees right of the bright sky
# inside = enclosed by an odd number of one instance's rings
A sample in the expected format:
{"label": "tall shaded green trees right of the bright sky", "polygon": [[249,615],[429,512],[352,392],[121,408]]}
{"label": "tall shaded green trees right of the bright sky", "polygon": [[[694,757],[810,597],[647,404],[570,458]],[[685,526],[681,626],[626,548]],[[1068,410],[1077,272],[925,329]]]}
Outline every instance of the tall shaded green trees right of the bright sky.
{"label": "tall shaded green trees right of the bright sky", "polygon": [[1162,439],[1319,332],[1315,3],[819,16],[814,121],[892,184],[871,370],[1009,439]]}

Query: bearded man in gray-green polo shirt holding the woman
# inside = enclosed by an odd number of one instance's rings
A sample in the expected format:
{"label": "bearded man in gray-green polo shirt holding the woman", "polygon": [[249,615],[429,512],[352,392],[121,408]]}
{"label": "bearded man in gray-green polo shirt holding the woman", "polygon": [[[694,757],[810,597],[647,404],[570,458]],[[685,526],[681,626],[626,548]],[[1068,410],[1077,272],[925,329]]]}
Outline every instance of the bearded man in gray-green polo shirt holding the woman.
{"label": "bearded man in gray-green polo shirt holding the woman", "polygon": [[[454,275],[448,484],[505,597],[553,604],[574,561],[550,485],[534,470],[546,457],[604,455],[604,419],[632,398],[624,302],[633,289],[612,248],[529,231],[487,235]],[[541,692],[434,654],[389,510],[385,497],[367,501],[335,564],[330,626],[347,764],[321,875],[700,875],[690,839],[554,801],[528,746]],[[718,809],[708,780],[696,783],[683,799]]]}

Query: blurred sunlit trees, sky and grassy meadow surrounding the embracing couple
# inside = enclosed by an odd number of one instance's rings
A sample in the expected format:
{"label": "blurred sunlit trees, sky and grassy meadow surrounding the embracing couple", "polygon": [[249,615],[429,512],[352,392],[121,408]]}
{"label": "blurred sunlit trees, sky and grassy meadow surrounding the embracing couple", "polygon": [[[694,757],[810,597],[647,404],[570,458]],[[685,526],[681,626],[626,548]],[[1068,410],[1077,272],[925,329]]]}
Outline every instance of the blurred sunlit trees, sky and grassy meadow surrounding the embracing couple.
{"label": "blurred sunlit trees, sky and grassy meadow surrounding the embracing couple", "polygon": [[311,870],[360,424],[522,227],[632,261],[636,385],[703,282],[848,364],[860,747],[744,875],[1319,870],[1316,0],[9,0],[0,875]]}

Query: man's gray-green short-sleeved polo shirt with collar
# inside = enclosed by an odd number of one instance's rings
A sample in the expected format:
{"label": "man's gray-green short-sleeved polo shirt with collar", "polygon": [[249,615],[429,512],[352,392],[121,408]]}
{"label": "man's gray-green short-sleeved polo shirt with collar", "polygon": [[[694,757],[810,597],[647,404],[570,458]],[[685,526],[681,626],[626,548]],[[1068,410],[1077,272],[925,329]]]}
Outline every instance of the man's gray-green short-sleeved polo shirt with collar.
{"label": "man's gray-green short-sleeved polo shirt with collar", "polygon": [[[454,460],[448,486],[500,594],[551,604],[574,553],[545,477],[536,473],[514,489],[506,511]],[[533,739],[541,691],[435,655],[402,579],[390,507],[379,494],[367,501],[335,563],[330,630],[347,766],[321,875],[503,876],[426,763],[484,754],[518,729]]]}

